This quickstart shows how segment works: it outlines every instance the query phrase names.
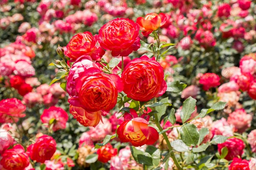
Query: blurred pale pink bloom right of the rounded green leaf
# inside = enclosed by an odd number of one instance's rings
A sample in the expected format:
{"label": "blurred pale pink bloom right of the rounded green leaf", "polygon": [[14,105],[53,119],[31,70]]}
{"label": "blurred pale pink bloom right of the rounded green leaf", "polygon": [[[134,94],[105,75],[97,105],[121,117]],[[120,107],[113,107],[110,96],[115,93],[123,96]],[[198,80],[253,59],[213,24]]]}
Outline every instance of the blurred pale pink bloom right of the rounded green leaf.
{"label": "blurred pale pink bloom right of the rounded green leaf", "polygon": [[233,136],[233,132],[235,131],[235,127],[233,125],[229,125],[225,118],[221,118],[212,123],[212,136],[222,135],[222,136]]}

